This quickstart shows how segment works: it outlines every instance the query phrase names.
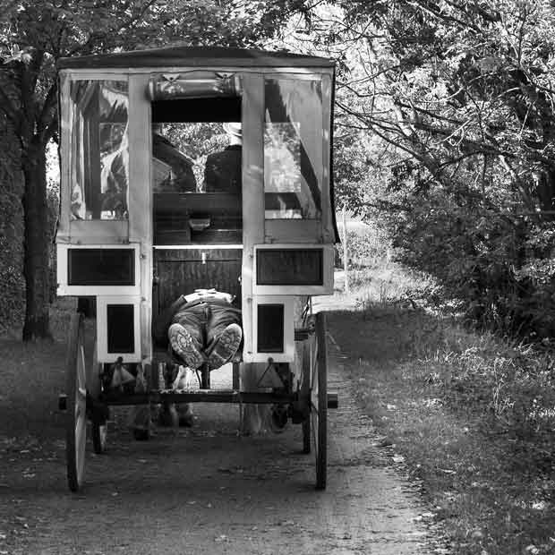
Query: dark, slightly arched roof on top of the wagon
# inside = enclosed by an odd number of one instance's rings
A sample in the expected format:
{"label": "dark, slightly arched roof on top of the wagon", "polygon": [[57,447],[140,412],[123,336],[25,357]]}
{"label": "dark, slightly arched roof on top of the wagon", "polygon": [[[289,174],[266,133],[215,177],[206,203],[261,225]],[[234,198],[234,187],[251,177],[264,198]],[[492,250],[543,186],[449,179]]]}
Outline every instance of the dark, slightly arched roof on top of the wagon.
{"label": "dark, slightly arched roof on top of the wagon", "polygon": [[329,58],[291,52],[269,52],[252,48],[167,47],[118,52],[115,54],[82,55],[61,58],[58,69],[102,69],[124,67],[333,67]]}

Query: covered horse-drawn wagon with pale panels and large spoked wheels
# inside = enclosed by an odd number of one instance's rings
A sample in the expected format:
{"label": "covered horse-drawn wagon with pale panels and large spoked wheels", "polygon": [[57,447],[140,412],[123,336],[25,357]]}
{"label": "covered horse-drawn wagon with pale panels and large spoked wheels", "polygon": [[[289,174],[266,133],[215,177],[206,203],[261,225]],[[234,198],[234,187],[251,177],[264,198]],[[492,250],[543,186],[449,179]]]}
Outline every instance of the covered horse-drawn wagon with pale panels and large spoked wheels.
{"label": "covered horse-drawn wagon with pale panels and large spoked wheels", "polygon": [[[100,453],[109,406],[200,401],[269,404],[278,424],[302,424],[316,485],[326,486],[337,396],[327,391],[325,320],[312,315],[311,297],[333,290],[333,83],[328,59],[233,48],[59,63],[58,295],[94,301],[89,326],[82,312],[71,321],[60,399],[72,491],[89,420]],[[241,145],[229,155],[238,166],[216,176],[208,150],[224,141],[223,125]],[[155,329],[180,295],[208,288],[241,311],[233,385],[210,388],[208,359],[195,369],[199,388],[175,390],[166,378],[184,362]],[[258,372],[258,386],[272,373],[271,387],[252,388],[245,369]]]}

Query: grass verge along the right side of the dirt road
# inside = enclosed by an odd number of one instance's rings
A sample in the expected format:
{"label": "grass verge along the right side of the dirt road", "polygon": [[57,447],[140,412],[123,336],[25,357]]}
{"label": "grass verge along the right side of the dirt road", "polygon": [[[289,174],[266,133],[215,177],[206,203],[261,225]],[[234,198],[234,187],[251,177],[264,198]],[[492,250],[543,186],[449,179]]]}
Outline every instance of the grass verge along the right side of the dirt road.
{"label": "grass verge along the right side of the dirt road", "polygon": [[422,482],[452,552],[555,553],[552,354],[401,308],[395,297],[418,284],[376,275],[330,324],[360,403]]}

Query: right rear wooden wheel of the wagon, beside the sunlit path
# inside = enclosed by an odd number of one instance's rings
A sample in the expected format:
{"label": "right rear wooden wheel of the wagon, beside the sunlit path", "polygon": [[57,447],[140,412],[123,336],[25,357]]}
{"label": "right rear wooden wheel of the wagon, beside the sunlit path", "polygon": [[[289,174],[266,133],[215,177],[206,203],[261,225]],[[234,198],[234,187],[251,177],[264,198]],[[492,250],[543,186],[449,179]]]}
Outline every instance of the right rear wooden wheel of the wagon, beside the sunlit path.
{"label": "right rear wooden wheel of the wagon, beside the sunlit path", "polygon": [[[328,360],[326,320],[316,314],[314,334],[309,336],[303,350],[302,392],[310,396],[310,418],[303,423],[303,451],[316,459],[316,488],[326,488],[328,471]],[[305,397],[306,398],[306,397]]]}

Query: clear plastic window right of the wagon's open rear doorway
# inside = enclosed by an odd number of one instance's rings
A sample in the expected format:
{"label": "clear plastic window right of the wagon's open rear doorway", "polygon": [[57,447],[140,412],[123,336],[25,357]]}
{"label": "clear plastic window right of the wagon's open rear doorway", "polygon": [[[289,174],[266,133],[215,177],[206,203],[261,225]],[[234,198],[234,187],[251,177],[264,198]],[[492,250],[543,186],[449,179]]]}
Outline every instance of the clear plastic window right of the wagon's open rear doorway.
{"label": "clear plastic window right of the wagon's open rear doorway", "polygon": [[323,130],[320,80],[265,81],[266,219],[320,219]]}

